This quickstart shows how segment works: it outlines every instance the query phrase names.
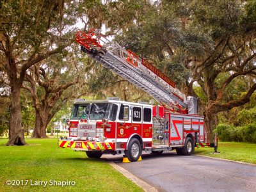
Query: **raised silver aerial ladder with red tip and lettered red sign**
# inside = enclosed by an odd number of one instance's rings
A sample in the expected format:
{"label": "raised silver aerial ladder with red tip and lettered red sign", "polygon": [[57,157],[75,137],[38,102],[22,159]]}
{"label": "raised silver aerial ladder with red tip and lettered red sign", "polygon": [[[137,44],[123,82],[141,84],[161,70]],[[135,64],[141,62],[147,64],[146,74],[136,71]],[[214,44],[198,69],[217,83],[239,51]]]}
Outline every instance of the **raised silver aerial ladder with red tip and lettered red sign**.
{"label": "raised silver aerial ladder with red tip and lettered red sign", "polygon": [[144,58],[109,41],[99,31],[90,29],[88,35],[78,31],[76,42],[81,44],[81,50],[90,58],[141,88],[159,103],[169,106],[171,111],[197,114],[195,97],[186,98],[160,70]]}

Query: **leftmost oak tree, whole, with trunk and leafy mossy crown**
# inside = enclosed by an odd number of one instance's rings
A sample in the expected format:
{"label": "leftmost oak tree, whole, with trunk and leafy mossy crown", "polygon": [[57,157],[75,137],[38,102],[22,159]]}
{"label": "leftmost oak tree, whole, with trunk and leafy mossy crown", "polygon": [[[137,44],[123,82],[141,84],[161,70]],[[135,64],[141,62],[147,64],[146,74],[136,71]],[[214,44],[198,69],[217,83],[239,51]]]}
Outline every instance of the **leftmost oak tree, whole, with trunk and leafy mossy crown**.
{"label": "leftmost oak tree, whole, with trunk and leafy mossy crown", "polygon": [[28,68],[72,44],[76,23],[72,1],[1,1],[1,68],[8,76],[12,93],[9,141],[6,145],[26,145],[20,109],[20,88]]}

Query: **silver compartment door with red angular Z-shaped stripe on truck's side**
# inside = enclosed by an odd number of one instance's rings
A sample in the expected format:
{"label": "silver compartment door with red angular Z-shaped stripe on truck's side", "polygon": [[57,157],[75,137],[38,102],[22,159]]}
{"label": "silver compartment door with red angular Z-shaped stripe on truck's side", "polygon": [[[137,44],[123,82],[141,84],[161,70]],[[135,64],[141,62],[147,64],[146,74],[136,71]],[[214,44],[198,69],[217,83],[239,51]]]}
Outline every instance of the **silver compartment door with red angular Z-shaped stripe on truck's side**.
{"label": "silver compartment door with red angular Z-shaped stripe on truck's side", "polygon": [[171,117],[170,145],[183,143],[183,118]]}

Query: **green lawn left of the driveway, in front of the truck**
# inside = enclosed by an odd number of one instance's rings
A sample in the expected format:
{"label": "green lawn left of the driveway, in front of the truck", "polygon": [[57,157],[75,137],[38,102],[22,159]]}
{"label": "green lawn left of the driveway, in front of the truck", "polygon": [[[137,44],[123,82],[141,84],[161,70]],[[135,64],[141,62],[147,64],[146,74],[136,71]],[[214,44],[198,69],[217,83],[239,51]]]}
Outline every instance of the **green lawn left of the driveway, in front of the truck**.
{"label": "green lawn left of the driveway, in front of the truck", "polygon": [[[104,160],[59,148],[56,138],[26,139],[28,146],[4,146],[7,141],[0,139],[0,191],[143,191]],[[19,180],[20,185],[8,186],[6,180]],[[70,185],[53,185],[54,180]],[[35,186],[38,181],[47,185]]]}

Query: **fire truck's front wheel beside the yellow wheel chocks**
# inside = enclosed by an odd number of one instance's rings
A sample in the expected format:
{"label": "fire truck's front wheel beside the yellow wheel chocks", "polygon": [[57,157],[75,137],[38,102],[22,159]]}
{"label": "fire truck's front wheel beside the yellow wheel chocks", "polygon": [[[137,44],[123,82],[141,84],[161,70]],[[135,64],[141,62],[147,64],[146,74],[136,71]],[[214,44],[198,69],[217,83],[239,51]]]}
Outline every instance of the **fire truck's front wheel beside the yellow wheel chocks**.
{"label": "fire truck's front wheel beside the yellow wheel chocks", "polygon": [[132,138],[129,142],[128,149],[125,151],[125,157],[129,159],[129,161],[134,162],[138,161],[142,153],[140,141],[136,138]]}

